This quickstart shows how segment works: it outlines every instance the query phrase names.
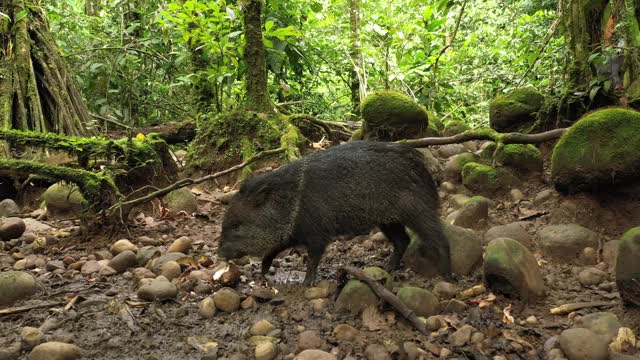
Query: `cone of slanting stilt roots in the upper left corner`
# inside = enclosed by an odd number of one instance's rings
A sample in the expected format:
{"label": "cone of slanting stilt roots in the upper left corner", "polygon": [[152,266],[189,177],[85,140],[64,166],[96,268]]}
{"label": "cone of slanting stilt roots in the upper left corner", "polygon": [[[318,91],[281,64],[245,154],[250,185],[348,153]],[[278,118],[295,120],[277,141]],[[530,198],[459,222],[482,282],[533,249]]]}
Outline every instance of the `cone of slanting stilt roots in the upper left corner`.
{"label": "cone of slanting stilt roots in the upper left corner", "polygon": [[87,135],[89,111],[39,4],[0,0],[0,128]]}

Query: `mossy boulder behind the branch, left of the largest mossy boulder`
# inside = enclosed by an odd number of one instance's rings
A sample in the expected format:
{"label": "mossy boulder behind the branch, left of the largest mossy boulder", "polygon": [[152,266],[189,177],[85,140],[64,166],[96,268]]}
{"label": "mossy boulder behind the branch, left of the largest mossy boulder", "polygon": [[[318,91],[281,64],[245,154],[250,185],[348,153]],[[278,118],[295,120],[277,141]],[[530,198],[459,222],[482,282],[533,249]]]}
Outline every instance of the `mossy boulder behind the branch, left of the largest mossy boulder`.
{"label": "mossy boulder behind the branch, left of the largest mossy boulder", "polygon": [[489,123],[500,131],[524,131],[536,120],[544,96],[532,87],[519,88],[489,102]]}

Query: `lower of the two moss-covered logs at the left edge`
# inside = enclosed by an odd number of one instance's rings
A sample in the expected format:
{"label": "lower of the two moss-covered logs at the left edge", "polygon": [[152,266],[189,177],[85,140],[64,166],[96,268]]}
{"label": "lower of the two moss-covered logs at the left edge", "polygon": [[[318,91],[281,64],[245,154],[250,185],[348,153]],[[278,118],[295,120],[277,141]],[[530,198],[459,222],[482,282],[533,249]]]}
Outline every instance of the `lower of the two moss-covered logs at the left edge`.
{"label": "lower of the two moss-covered logs at the left edge", "polygon": [[121,197],[112,178],[105,172],[92,172],[26,160],[0,160],[3,175],[38,175],[53,182],[66,181],[78,186],[86,199],[87,210],[109,208]]}

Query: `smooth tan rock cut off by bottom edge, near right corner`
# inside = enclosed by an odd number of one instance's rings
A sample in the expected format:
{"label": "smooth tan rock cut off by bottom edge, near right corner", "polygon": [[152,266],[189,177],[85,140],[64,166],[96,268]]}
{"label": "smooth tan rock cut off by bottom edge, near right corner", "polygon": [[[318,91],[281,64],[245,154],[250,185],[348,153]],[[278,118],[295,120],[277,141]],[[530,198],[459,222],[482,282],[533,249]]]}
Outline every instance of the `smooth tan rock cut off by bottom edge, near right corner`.
{"label": "smooth tan rock cut off by bottom edge, near right corner", "polygon": [[569,360],[607,360],[607,342],[588,329],[568,329],[559,337],[560,349]]}

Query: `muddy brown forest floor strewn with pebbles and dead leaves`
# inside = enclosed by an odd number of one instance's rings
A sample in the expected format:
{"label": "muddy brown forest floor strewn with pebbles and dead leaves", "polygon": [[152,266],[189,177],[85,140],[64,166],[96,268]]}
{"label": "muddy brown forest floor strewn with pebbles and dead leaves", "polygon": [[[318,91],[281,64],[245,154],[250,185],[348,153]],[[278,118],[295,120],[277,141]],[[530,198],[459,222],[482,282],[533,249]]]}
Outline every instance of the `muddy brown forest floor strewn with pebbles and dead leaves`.
{"label": "muddy brown forest floor strewn with pebbles and dead leaves", "polygon": [[[434,149],[434,153],[436,153]],[[443,163],[446,159],[442,159]],[[541,265],[541,271],[548,288],[545,298],[534,305],[524,306],[517,298],[507,298],[490,291],[475,298],[457,302],[451,311],[442,312],[446,326],[429,335],[422,335],[395,313],[388,305],[382,306],[378,319],[362,315],[352,315],[335,309],[335,289],[343,285],[338,279],[337,269],[341,266],[364,268],[383,267],[391,253],[391,245],[380,242],[375,236],[360,236],[352,241],[333,243],[322,259],[319,280],[327,280],[330,295],[327,301],[307,300],[301,285],[304,278],[304,252],[286,251],[274,262],[272,272],[267,276],[269,285],[277,290],[271,299],[260,299],[247,309],[221,312],[211,318],[199,315],[198,304],[220,285],[211,276],[218,265],[216,248],[224,214],[224,205],[219,201],[220,190],[207,191],[193,189],[199,195],[199,216],[178,216],[158,218],[152,214],[139,216],[129,228],[129,232],[114,235],[108,230],[103,235],[93,231],[89,239],[82,239],[79,224],[74,220],[28,222],[28,232],[47,236],[47,246],[35,254],[48,265],[53,261],[101,259],[104,251],[122,238],[131,240],[139,247],[154,244],[169,246],[174,240],[187,236],[192,240],[189,255],[201,266],[204,264],[209,284],[197,289],[189,282],[187,269],[176,280],[181,291],[175,300],[162,302],[141,301],[136,296],[136,284],[132,272],[114,276],[99,273],[83,275],[79,271],[58,269],[54,266],[34,265],[30,269],[42,285],[42,291],[30,299],[21,301],[13,308],[33,306],[26,312],[3,314],[0,311],[0,349],[9,349],[21,341],[21,329],[26,326],[40,327],[45,322],[49,340],[72,342],[78,345],[87,359],[247,359],[254,358],[255,345],[251,340],[250,328],[259,320],[267,320],[273,325],[269,336],[277,342],[277,358],[293,358],[301,348],[321,348],[331,352],[338,359],[402,359],[438,358],[450,359],[546,359],[557,335],[572,328],[584,315],[595,312],[615,314],[620,323],[638,334],[640,311],[623,308],[616,290],[614,271],[611,266],[598,265],[607,272],[607,278],[597,286],[584,286],[578,281],[578,273],[593,264],[559,263],[545,259],[540,254],[537,233],[550,224],[579,224],[596,231],[601,241],[620,238],[629,228],[640,224],[640,203],[633,193],[611,192],[599,197],[590,195],[564,196],[554,192],[548,201],[533,205],[536,194],[545,189],[553,189],[546,170],[522,182],[518,189],[524,194],[523,201],[514,202],[507,192],[492,198],[496,206],[490,209],[488,220],[475,229],[482,239],[485,231],[496,225],[503,225],[524,219],[526,229],[533,239],[532,251]],[[444,194],[443,194],[444,195]],[[444,195],[441,213],[445,218],[452,211],[449,199]],[[28,210],[28,209],[27,209]],[[47,229],[34,228],[46,224]],[[95,229],[94,229],[95,230]],[[15,243],[7,250],[14,259],[29,254],[33,247],[26,243]],[[483,245],[486,245],[483,242]],[[1,249],[0,249],[1,250]],[[103,252],[101,255],[100,252]],[[2,255],[2,251],[0,251]],[[71,260],[69,260],[72,258]],[[0,260],[2,258],[0,257]],[[5,257],[6,260],[6,257]],[[41,262],[40,265],[43,263]],[[240,283],[233,287],[241,294],[242,300],[256,294],[260,282],[259,262],[240,266]],[[609,264],[610,265],[610,264]],[[4,269],[3,269],[4,267]],[[10,270],[13,264],[0,261],[0,271]],[[51,270],[51,271],[50,271]],[[183,266],[183,269],[184,266]],[[433,289],[441,279],[424,279],[409,270],[392,272],[394,288],[403,285]],[[482,269],[477,268],[471,275],[458,281],[458,291],[482,284]],[[260,301],[263,300],[263,301]],[[479,301],[485,300],[482,306]],[[551,315],[550,309],[563,304],[577,302],[608,302],[601,307],[588,307],[570,314]],[[37,307],[42,305],[42,307]],[[505,310],[507,309],[507,310]],[[511,309],[510,313],[508,312]],[[505,311],[513,317],[513,322],[505,319]],[[368,314],[373,316],[376,314]],[[505,321],[506,320],[506,321]],[[54,324],[54,325],[51,325]],[[337,334],[334,329],[340,324],[348,324],[358,329],[352,337]],[[459,345],[457,330],[465,325],[473,326],[472,336]],[[312,330],[313,332],[308,332]],[[304,334],[304,335],[303,335]],[[463,336],[464,337],[464,336]],[[259,340],[259,339],[258,339]],[[416,350],[407,343],[415,344]],[[380,350],[375,346],[380,345]],[[211,346],[209,351],[203,351]],[[369,348],[369,353],[366,349]],[[413,349],[413,350],[411,350]],[[409,351],[407,355],[406,351]],[[415,350],[415,351],[414,351]],[[376,355],[374,352],[377,352]],[[636,349],[626,354],[635,358]],[[553,353],[551,351],[551,353]],[[27,350],[5,357],[26,358]],[[416,355],[422,354],[422,355]],[[0,351],[0,355],[2,352]],[[375,357],[379,356],[379,357]],[[391,357],[389,357],[391,356]],[[614,358],[612,355],[611,358]],[[623,357],[620,357],[622,359]]]}

